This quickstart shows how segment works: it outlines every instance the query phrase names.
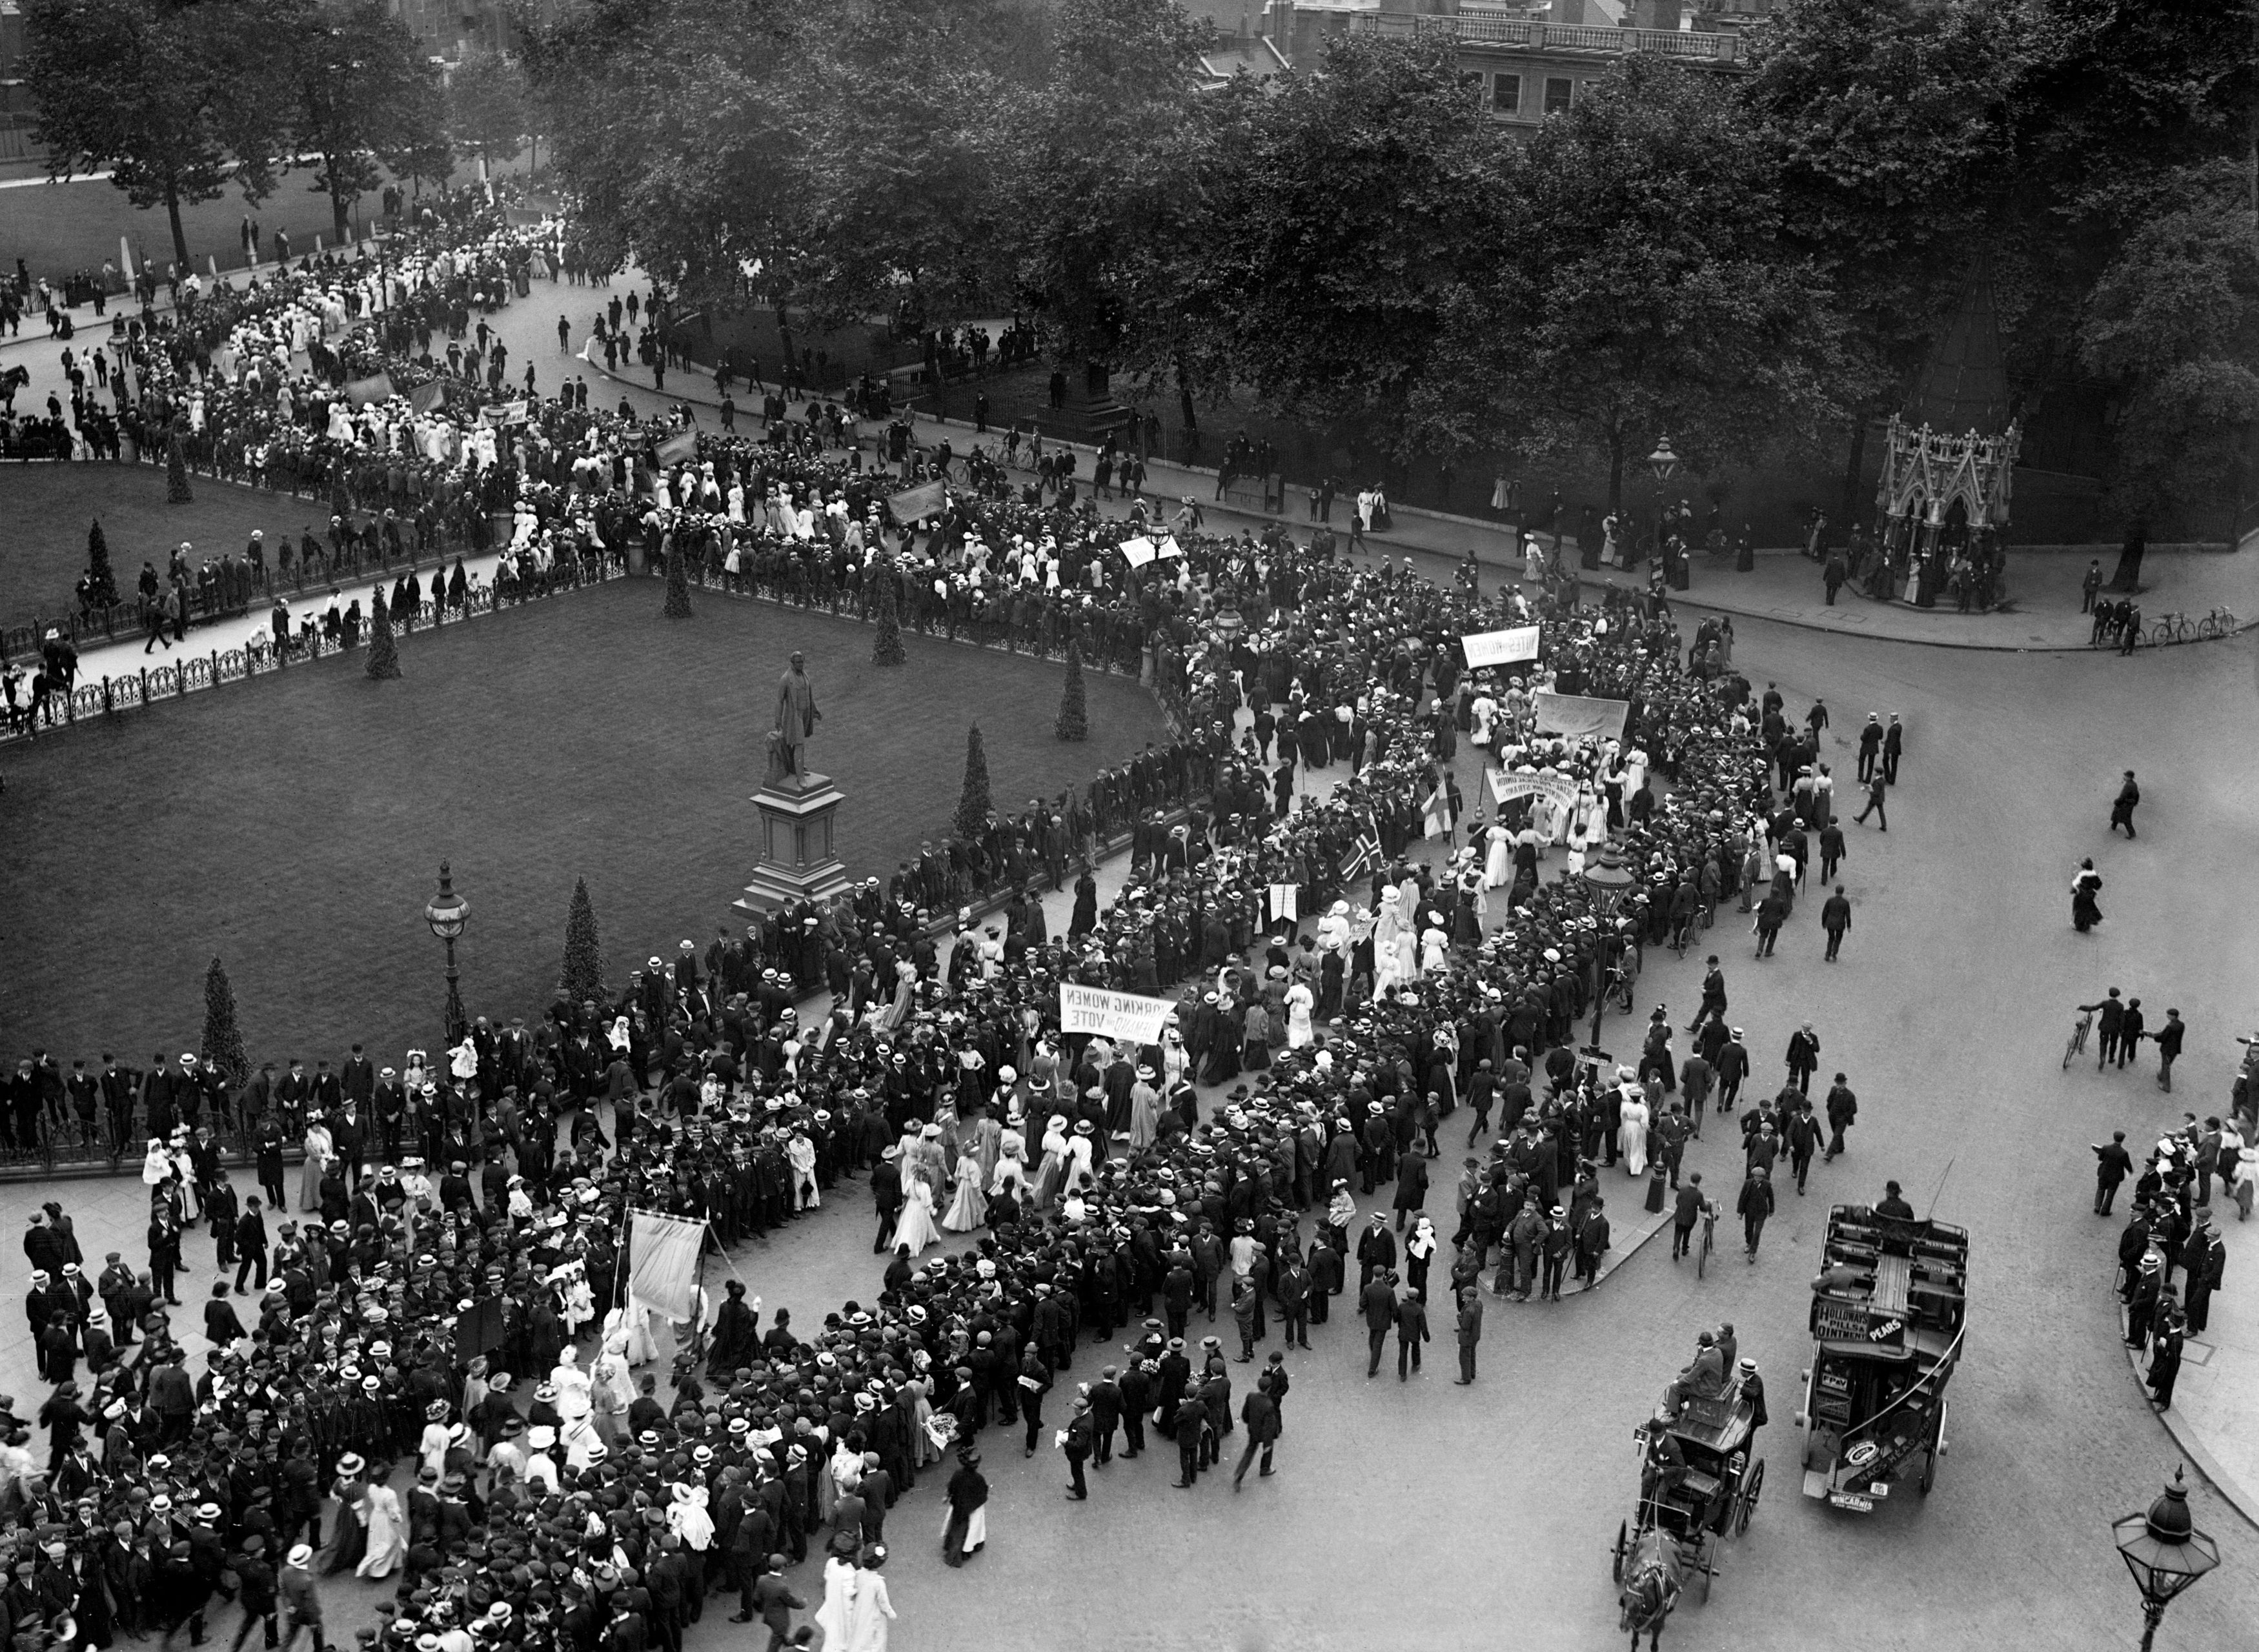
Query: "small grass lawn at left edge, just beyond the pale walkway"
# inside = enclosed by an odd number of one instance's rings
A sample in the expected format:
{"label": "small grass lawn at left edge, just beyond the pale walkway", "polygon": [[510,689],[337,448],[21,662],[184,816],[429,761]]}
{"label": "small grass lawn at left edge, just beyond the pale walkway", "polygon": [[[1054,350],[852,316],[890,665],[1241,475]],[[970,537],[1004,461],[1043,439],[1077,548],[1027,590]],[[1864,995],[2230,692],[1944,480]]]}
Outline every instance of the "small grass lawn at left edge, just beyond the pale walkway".
{"label": "small grass lawn at left edge, just beyond the pale walkway", "polygon": [[273,542],[296,540],[307,527],[328,533],[330,511],[319,499],[239,488],[192,477],[190,504],[165,504],[163,466],[0,466],[0,628],[29,626],[77,612],[72,585],[86,572],[86,529],[102,520],[117,594],[133,599],[142,563],[165,572],[172,549],[194,545],[190,565],[206,556],[242,551],[251,529]]}

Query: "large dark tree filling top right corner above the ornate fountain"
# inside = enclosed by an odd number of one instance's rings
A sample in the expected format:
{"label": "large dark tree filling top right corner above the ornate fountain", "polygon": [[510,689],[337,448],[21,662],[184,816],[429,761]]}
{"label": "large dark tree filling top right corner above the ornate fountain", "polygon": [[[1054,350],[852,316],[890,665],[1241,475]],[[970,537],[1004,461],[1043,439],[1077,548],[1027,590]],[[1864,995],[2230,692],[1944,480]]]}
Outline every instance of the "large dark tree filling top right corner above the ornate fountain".
{"label": "large dark tree filling top right corner above the ornate fountain", "polygon": [[1979,249],[2015,382],[2076,377],[2076,319],[2162,181],[2248,140],[2250,16],[2200,0],[1796,0],[1751,38],[1782,233],[1843,319],[1846,508]]}

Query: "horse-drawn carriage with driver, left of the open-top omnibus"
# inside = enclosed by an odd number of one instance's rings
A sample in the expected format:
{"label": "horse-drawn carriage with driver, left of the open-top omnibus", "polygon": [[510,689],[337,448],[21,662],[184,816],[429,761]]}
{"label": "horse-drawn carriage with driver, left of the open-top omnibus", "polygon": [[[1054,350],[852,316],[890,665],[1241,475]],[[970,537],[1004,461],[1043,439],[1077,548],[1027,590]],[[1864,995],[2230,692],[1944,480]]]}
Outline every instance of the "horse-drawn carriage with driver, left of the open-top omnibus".
{"label": "horse-drawn carriage with driver, left of the open-top omnibus", "polygon": [[1631,1433],[1640,1449],[1640,1503],[1615,1528],[1613,1575],[1622,1620],[1638,1647],[1647,1632],[1649,1652],[1663,1636],[1663,1620],[1678,1605],[1687,1573],[1710,1580],[1719,1568],[1719,1539],[1739,1537],[1764,1492],[1764,1458],[1751,1458],[1758,1406],[1742,1394],[1739,1374],[1715,1399],[1665,1403]]}

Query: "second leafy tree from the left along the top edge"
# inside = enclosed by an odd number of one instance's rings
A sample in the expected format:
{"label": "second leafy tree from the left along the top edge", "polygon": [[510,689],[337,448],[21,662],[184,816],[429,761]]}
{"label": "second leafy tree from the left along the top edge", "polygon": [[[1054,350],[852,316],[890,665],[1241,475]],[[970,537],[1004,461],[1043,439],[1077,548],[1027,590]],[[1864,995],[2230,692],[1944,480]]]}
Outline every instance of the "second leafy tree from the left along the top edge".
{"label": "second leafy tree from the left along the top edge", "polygon": [[445,97],[438,75],[380,0],[291,0],[289,90],[294,142],[314,156],[314,192],[330,197],[337,240],[352,203],[400,176],[443,174]]}

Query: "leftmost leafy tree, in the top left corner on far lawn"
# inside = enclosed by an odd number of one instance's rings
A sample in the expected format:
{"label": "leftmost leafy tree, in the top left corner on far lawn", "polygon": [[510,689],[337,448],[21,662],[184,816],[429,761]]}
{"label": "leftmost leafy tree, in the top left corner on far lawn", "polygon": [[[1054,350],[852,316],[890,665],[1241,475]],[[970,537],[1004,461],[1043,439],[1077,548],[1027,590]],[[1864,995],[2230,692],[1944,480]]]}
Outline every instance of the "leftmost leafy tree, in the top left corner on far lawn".
{"label": "leftmost leafy tree, in the top left corner on far lawn", "polygon": [[278,0],[25,0],[23,11],[50,176],[108,167],[133,206],[165,208],[181,264],[183,206],[230,183],[246,201],[273,190]]}

